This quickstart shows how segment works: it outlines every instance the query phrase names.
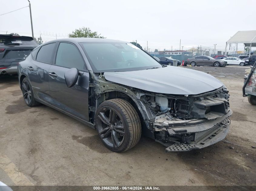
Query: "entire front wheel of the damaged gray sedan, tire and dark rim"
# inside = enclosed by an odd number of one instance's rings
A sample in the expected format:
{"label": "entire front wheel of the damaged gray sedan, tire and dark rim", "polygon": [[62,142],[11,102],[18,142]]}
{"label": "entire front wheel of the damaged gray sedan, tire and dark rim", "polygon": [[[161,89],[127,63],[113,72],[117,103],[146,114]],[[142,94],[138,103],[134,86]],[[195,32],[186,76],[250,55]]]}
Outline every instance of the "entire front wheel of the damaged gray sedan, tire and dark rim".
{"label": "entire front wheel of the damaged gray sedan, tire and dark rim", "polygon": [[95,127],[103,144],[111,151],[124,152],[141,137],[141,121],[131,103],[112,99],[101,103],[95,114]]}

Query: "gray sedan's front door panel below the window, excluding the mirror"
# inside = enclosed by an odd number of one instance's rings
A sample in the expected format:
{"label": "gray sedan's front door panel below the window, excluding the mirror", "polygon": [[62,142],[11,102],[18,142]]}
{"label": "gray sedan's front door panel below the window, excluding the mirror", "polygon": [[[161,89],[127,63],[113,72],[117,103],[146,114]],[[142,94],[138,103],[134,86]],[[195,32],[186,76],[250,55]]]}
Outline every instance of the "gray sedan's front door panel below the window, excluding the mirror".
{"label": "gray sedan's front door panel below the window, excluding the mirror", "polygon": [[65,72],[68,69],[69,68],[51,65],[49,73],[54,74],[49,75],[52,105],[80,119],[88,121],[89,73],[82,72],[83,74],[78,76],[76,84],[68,88],[65,81]]}

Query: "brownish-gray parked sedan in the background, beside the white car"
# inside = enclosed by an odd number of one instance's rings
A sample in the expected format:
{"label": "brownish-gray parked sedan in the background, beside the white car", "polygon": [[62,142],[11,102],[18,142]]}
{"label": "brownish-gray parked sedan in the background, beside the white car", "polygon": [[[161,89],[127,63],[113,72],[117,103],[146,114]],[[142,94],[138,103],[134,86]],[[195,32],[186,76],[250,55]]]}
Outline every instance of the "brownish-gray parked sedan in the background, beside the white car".
{"label": "brownish-gray parked sedan in the background, beside the white car", "polygon": [[187,63],[191,66],[226,66],[227,62],[223,60],[217,60],[212,58],[211,56],[195,56],[193,58],[189,58]]}

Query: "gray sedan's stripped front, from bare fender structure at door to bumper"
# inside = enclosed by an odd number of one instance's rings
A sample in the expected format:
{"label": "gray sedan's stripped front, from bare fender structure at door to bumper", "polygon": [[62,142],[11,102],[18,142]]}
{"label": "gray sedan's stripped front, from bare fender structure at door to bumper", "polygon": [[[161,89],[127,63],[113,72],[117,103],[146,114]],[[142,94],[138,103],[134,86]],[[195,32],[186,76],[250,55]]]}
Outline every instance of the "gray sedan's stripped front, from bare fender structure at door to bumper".
{"label": "gray sedan's stripped front, from bare fender structure at door to bumper", "polygon": [[130,101],[141,114],[142,133],[165,145],[166,152],[204,148],[228,133],[232,110],[224,85],[202,94],[178,95],[118,84],[104,75],[94,75],[94,83],[96,107],[116,97]]}

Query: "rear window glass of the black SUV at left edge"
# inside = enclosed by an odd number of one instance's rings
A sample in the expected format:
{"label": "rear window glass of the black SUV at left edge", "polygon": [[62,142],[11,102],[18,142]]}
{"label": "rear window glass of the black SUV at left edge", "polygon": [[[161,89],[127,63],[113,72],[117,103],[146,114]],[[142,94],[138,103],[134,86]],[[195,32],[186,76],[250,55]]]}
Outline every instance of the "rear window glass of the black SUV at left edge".
{"label": "rear window glass of the black SUV at left edge", "polygon": [[35,40],[22,37],[0,38],[0,45],[38,45]]}

